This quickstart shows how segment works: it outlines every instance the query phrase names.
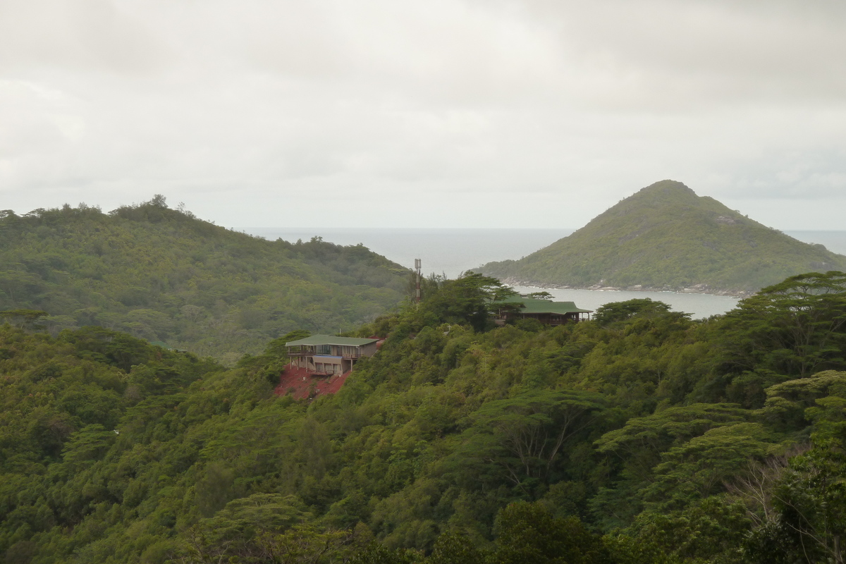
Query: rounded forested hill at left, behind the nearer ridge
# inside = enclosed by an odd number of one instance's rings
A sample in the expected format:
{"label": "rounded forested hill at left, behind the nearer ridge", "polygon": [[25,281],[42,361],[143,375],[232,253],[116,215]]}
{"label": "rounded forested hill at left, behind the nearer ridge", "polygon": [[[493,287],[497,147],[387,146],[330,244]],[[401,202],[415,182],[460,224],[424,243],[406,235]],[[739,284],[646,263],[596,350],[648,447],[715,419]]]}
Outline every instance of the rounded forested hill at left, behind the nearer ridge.
{"label": "rounded forested hill at left, behind the nearer ridge", "polygon": [[290,244],[168,209],[0,211],[0,310],[54,334],[103,326],[233,361],[294,328],[349,331],[398,304],[408,271],[363,246]]}

